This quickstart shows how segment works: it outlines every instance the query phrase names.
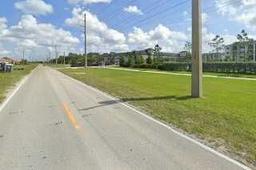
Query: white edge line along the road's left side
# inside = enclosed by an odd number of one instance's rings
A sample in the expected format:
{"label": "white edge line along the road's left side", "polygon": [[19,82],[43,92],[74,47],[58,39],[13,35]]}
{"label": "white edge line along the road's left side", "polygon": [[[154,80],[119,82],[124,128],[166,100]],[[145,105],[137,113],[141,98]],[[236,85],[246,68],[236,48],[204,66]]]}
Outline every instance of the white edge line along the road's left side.
{"label": "white edge line along the road's left side", "polygon": [[3,103],[0,104],[0,112],[5,108],[5,106],[9,103],[9,101],[15,96],[15,94],[20,90],[20,88],[26,83],[28,78],[31,76],[31,74],[34,72],[36,68],[34,68],[28,75],[22,78],[21,81],[19,81],[15,87],[14,90],[11,91],[10,95],[7,96],[6,99],[4,99]]}

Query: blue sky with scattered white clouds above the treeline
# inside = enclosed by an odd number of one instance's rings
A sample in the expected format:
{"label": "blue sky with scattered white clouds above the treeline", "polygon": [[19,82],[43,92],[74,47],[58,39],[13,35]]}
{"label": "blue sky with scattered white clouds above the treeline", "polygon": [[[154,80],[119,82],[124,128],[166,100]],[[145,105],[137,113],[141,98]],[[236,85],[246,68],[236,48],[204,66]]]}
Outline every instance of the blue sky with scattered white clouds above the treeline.
{"label": "blue sky with scattered white clouds above the treeline", "polygon": [[[191,41],[192,0],[0,1],[0,56],[45,60],[83,53],[83,14],[88,52],[152,48],[179,52]],[[216,36],[225,44],[245,29],[256,39],[256,0],[202,0],[203,52]]]}

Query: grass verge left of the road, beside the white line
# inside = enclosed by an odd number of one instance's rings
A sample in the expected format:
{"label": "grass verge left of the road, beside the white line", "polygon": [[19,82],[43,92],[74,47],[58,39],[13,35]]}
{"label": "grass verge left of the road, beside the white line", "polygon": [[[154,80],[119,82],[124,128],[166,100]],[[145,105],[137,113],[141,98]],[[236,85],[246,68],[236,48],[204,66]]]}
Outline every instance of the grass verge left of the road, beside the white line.
{"label": "grass verge left of the road, beside the white line", "polygon": [[[5,95],[22,77],[30,73],[36,65],[15,66],[11,73],[0,72],[0,103],[4,100]],[[24,68],[23,70],[21,68]]]}

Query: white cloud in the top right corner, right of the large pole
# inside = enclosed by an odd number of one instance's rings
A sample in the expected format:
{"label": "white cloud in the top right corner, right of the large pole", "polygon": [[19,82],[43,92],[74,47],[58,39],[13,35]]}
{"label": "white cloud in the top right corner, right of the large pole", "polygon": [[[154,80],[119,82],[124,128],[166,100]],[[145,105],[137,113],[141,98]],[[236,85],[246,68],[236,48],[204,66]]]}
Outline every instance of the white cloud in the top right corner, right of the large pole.
{"label": "white cloud in the top right corner, right of the large pole", "polygon": [[221,15],[256,30],[255,0],[239,0],[228,4],[226,0],[216,0],[216,7]]}

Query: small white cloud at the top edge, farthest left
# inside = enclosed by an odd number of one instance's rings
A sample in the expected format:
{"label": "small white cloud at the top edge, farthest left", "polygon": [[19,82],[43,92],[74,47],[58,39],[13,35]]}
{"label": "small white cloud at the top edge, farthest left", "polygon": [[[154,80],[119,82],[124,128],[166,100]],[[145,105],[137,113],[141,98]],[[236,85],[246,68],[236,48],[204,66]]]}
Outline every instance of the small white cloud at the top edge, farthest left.
{"label": "small white cloud at the top edge, farthest left", "polygon": [[25,0],[15,3],[15,7],[25,14],[47,15],[53,12],[53,7],[43,0]]}

